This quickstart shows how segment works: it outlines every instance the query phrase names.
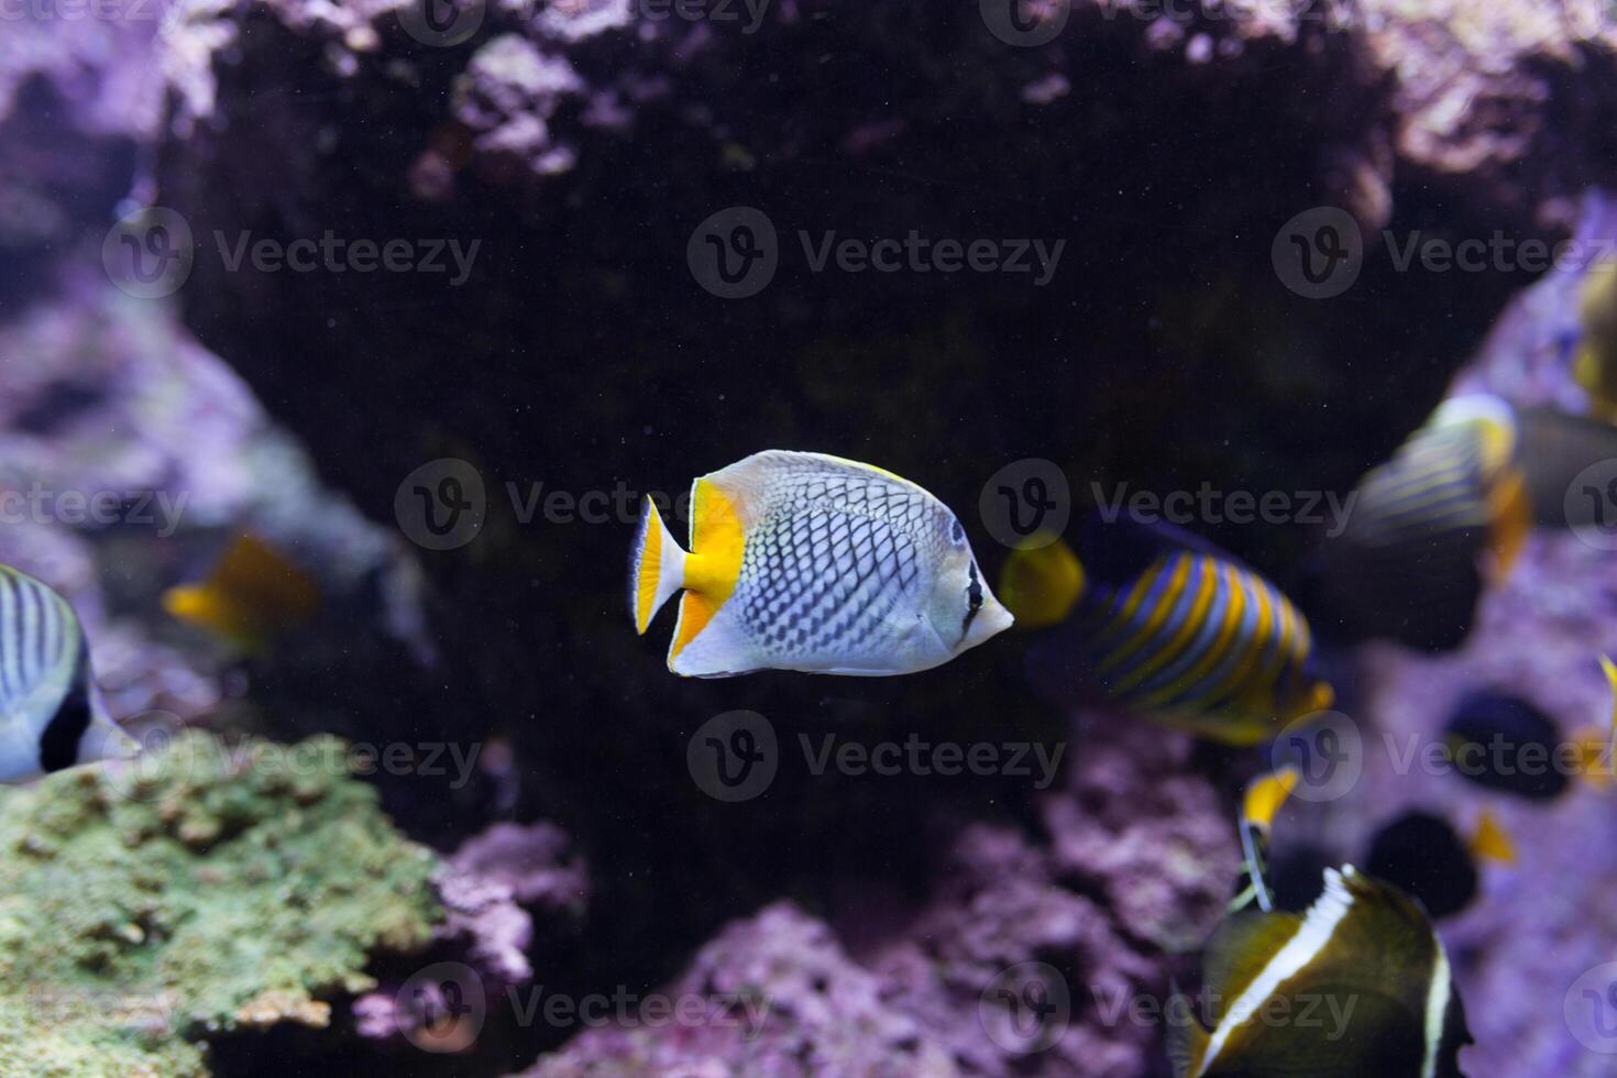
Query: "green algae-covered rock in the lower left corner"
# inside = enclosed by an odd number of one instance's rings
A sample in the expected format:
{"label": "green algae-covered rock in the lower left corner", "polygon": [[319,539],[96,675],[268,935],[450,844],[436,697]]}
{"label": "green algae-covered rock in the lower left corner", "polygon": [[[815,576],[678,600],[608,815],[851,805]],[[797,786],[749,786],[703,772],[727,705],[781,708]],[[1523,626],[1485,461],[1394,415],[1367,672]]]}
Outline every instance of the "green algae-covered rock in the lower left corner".
{"label": "green algae-covered rock in the lower left corner", "polygon": [[322,1026],[372,950],[427,942],[435,866],[331,737],[0,790],[0,1078],[205,1075],[212,1033]]}

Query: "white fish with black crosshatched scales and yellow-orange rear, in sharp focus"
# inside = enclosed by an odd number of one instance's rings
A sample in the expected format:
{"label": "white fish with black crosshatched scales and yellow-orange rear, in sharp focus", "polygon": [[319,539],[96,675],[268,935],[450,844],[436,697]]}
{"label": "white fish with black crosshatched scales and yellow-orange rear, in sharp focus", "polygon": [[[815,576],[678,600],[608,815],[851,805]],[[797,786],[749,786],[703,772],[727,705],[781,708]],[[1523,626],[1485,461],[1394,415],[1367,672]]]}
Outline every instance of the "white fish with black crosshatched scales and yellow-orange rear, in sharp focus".
{"label": "white fish with black crosshatched scales and yellow-orange rear, in sharp focus", "polygon": [[855,461],[768,449],[697,478],[689,546],[647,498],[629,613],[644,634],[684,590],[668,669],[687,677],[910,674],[1011,625],[948,506]]}

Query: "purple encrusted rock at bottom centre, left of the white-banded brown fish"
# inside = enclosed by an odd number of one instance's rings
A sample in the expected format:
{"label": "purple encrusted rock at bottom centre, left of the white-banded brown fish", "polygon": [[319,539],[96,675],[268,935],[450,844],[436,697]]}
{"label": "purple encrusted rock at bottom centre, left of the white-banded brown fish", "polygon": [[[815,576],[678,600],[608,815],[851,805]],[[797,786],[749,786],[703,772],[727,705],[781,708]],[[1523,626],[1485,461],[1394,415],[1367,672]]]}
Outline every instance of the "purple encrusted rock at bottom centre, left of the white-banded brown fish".
{"label": "purple encrusted rock at bottom centre, left of the white-banded brown fish", "polygon": [[[1169,971],[1224,912],[1232,824],[1184,769],[1188,739],[1109,719],[1075,740],[1082,763],[1041,800],[1048,845],[969,824],[920,908],[857,887],[831,923],[770,905],[661,989],[708,1004],[702,1018],[627,1015],[526,1073],[1151,1073]],[[1015,1034],[994,997],[1025,968],[1064,999],[1048,1041]]]}

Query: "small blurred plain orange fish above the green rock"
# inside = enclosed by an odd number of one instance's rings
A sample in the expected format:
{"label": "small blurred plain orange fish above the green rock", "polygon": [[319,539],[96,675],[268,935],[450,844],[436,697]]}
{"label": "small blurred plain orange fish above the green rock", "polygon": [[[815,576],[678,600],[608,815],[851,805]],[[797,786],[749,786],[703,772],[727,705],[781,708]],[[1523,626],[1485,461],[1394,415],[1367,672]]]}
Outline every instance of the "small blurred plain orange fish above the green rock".
{"label": "small blurred plain orange fish above the green rock", "polygon": [[285,554],[255,535],[238,535],[207,579],[163,593],[163,609],[249,651],[309,621],[320,608],[320,587]]}

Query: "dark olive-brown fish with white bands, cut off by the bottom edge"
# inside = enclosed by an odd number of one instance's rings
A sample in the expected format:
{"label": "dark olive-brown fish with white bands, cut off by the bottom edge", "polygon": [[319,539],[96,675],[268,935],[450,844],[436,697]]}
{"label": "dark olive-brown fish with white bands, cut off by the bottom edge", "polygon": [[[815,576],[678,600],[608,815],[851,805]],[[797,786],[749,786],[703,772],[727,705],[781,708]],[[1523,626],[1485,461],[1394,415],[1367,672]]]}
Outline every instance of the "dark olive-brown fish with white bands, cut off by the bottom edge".
{"label": "dark olive-brown fish with white bands, cut off by the bottom edge", "polygon": [[1352,865],[1324,870],[1302,915],[1226,918],[1203,955],[1203,994],[1210,1026],[1190,1015],[1169,1026],[1176,1078],[1462,1078],[1471,1042],[1420,905]]}

